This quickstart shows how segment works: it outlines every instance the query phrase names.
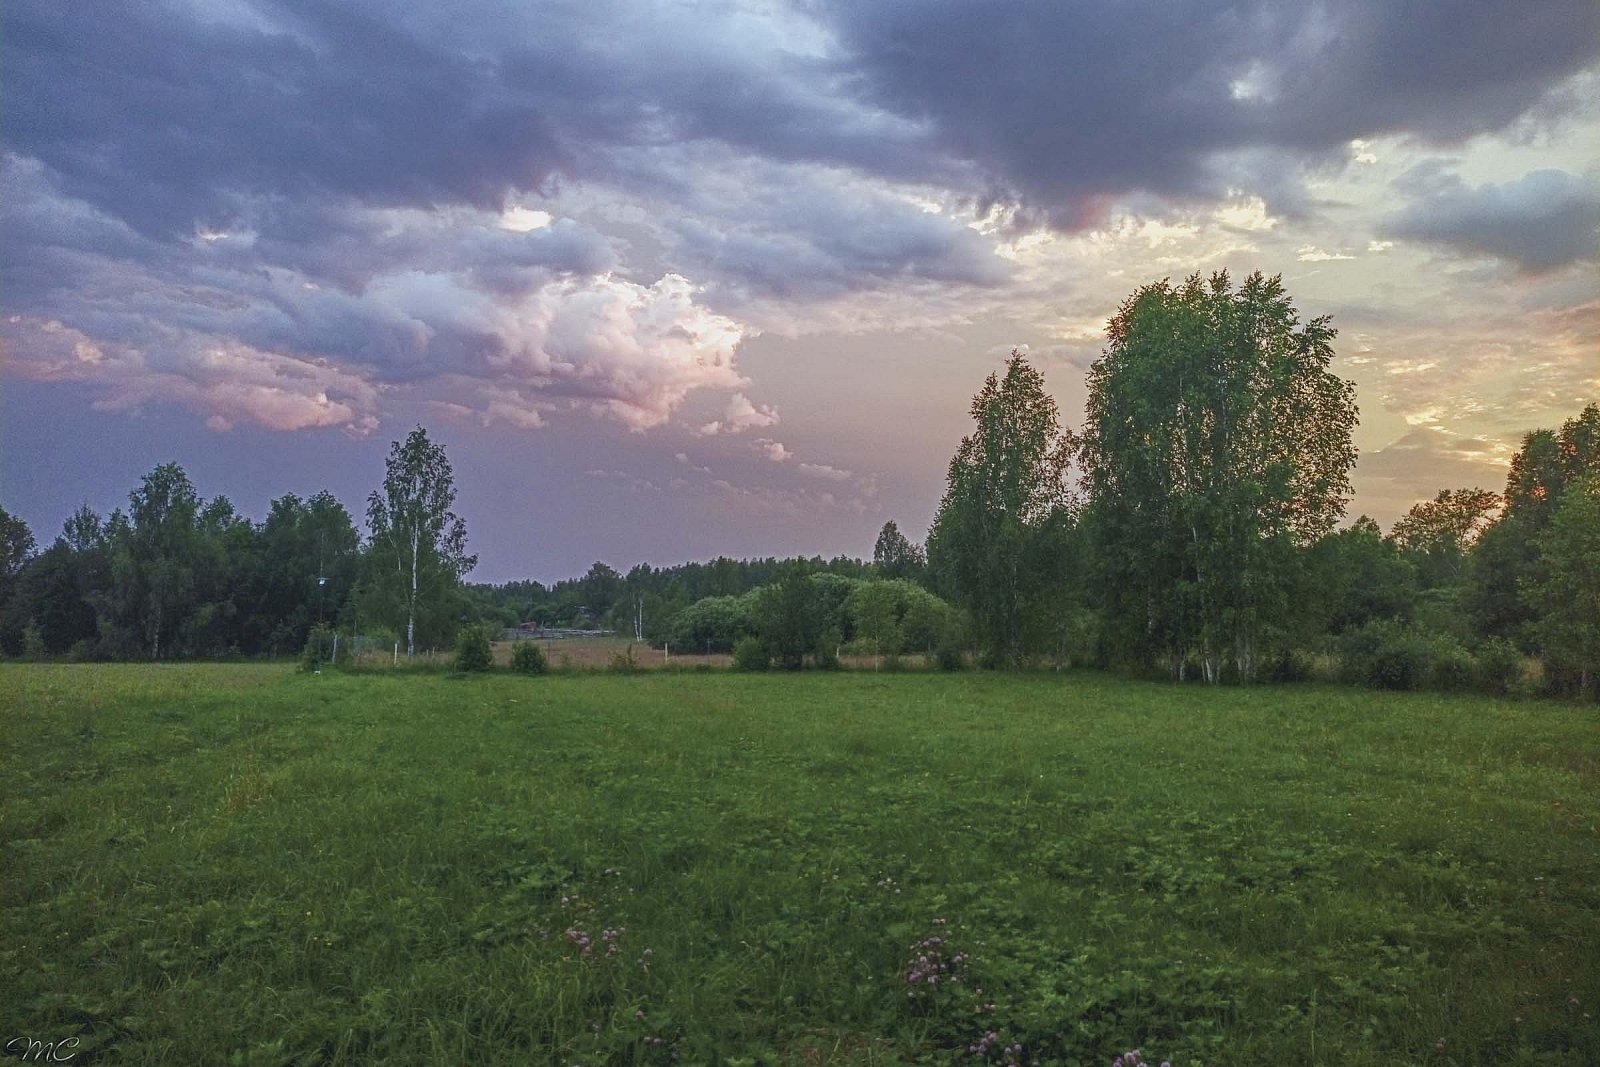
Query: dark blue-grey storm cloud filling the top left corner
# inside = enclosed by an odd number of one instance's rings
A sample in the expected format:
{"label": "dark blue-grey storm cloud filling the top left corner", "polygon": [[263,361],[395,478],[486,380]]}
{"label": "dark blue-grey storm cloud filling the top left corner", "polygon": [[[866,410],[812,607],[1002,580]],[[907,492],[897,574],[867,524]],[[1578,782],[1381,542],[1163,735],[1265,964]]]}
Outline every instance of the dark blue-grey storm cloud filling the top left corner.
{"label": "dark blue-grey storm cloud filling the top left corner", "polygon": [[331,3],[280,29],[160,3],[6,6],[6,142],[152,235],[229,224],[253,197],[499,203],[562,150],[493,64]]}

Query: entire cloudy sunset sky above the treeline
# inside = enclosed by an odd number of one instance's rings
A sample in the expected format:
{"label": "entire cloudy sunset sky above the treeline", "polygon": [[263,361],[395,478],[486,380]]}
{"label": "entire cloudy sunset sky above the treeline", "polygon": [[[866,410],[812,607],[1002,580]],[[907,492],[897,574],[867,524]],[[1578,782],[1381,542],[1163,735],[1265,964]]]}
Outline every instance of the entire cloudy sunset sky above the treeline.
{"label": "entire cloudy sunset sky above the treeline", "polygon": [[1600,5],[8,0],[0,507],[178,461],[475,581],[920,537],[1014,347],[1069,426],[1141,285],[1339,330],[1350,517],[1600,400]]}

